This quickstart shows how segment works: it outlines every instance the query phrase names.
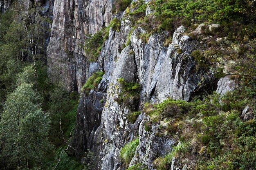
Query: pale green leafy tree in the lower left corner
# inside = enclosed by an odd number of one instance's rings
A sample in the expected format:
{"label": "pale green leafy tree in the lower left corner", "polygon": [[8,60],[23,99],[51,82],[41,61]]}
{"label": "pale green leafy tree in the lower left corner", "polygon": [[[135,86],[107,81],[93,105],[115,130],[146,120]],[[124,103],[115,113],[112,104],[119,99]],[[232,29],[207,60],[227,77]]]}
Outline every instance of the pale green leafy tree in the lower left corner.
{"label": "pale green leafy tree in the lower left corner", "polygon": [[[1,162],[10,167],[45,166],[47,152],[52,150],[48,141],[49,116],[36,104],[38,99],[33,84],[22,83],[7,95],[1,113]],[[15,147],[13,147],[13,145]],[[4,159],[8,155],[8,159]],[[29,167],[27,167],[29,168]]]}

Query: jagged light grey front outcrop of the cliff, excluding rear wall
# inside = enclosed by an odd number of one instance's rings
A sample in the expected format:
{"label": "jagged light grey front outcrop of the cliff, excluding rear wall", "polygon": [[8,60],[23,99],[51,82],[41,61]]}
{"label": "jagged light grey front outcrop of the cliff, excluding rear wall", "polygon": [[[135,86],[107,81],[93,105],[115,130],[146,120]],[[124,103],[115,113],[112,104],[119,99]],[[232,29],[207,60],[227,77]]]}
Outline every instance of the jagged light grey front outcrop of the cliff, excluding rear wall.
{"label": "jagged light grey front outcrop of the cliff, excluding rear wall", "polygon": [[[101,69],[105,70],[106,74],[99,84],[98,91],[92,90],[89,97],[83,96],[80,103],[86,104],[79,104],[81,107],[79,110],[87,111],[83,114],[78,112],[74,143],[78,142],[77,150],[79,148],[83,151],[94,150],[99,157],[97,169],[101,170],[125,169],[119,158],[120,150],[137,136],[140,144],[130,166],[139,162],[153,169],[153,161],[170,152],[171,144],[175,142],[168,137],[159,137],[157,134],[161,130],[157,125],[152,126],[150,132],[146,131],[144,123],[148,118],[143,114],[135,124],[128,121],[127,115],[132,112],[131,108],[116,102],[121,91],[118,78],[123,77],[127,82],[139,82],[141,99],[138,105],[142,108],[145,102],[150,100],[162,102],[168,97],[188,101],[200,81],[199,75],[204,75],[205,72],[204,70],[195,71],[196,62],[190,53],[198,48],[198,43],[184,35],[184,27],[175,31],[173,43],[169,47],[163,46],[164,34],[151,35],[146,44],[138,38],[144,30],[135,29],[130,37],[131,45],[119,52],[119,44],[125,43],[124,35],[127,35],[129,30],[128,21],[122,21],[119,33],[110,29],[109,39],[103,44],[99,61],[94,63],[102,66]],[[182,49],[182,53],[178,52],[178,49]],[[104,97],[105,106],[97,111],[89,108],[90,105],[97,103],[95,102],[97,99],[91,97],[95,93],[106,96]],[[88,100],[92,103],[86,102]],[[100,114],[101,123],[99,124]],[[94,119],[94,123],[92,123],[92,117],[98,117]],[[99,127],[96,129],[97,126]],[[177,161],[173,167],[179,169]]]}

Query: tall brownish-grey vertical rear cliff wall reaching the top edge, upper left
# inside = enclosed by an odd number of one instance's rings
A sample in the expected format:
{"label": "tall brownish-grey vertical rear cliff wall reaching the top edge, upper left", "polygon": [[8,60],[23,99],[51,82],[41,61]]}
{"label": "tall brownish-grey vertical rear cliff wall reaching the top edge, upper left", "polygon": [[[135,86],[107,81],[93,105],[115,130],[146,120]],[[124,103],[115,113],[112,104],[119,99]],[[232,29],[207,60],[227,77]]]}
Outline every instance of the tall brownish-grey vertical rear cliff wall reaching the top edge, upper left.
{"label": "tall brownish-grey vertical rear cliff wall reaching the top edge, upper left", "polygon": [[[47,49],[48,73],[63,80],[69,91],[80,91],[99,69],[83,50],[85,34],[94,34],[112,19],[112,0],[55,0],[52,35]],[[93,67],[93,68],[90,68]]]}

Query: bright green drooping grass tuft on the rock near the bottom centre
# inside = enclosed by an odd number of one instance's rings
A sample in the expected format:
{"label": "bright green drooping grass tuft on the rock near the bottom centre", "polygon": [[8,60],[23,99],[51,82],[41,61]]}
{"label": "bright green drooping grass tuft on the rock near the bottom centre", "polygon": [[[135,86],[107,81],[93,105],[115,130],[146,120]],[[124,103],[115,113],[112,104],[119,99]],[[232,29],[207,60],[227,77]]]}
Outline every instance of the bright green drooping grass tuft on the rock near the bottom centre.
{"label": "bright green drooping grass tuft on the rock near the bottom centre", "polygon": [[134,157],[137,146],[139,145],[139,138],[130,141],[128,144],[121,149],[120,158],[126,165],[129,165],[132,157]]}

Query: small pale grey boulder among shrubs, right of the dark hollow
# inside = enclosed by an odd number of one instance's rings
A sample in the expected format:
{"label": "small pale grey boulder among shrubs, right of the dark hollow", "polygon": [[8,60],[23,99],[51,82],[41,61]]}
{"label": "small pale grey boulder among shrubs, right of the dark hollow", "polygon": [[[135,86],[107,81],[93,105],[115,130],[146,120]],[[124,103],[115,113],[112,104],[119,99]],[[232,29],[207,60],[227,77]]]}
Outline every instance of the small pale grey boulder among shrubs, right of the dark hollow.
{"label": "small pale grey boulder among shrubs, right of the dark hollow", "polygon": [[218,81],[218,88],[216,93],[220,93],[220,96],[225,95],[229,91],[234,91],[236,88],[236,82],[229,78],[229,75],[220,78]]}

